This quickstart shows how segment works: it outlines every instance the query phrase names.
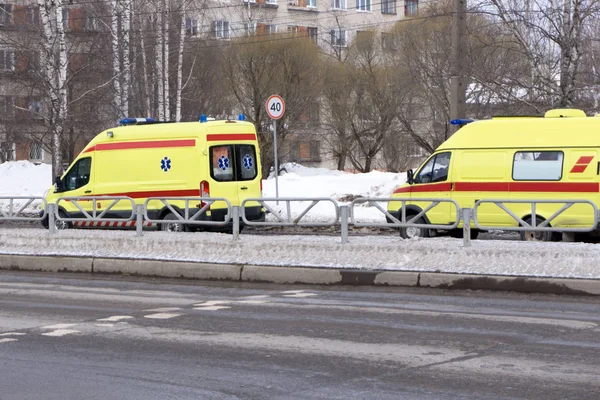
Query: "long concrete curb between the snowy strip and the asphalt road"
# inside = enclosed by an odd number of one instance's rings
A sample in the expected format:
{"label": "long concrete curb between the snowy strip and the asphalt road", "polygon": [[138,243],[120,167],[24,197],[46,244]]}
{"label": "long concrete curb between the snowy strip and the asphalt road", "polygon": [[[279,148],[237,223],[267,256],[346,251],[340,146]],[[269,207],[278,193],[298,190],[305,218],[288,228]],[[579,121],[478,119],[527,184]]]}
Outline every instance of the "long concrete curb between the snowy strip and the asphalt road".
{"label": "long concrete curb between the snowy strip and the asphalt road", "polygon": [[315,267],[211,264],[182,261],[0,254],[0,270],[87,272],[164,278],[279,284],[404,286],[458,290],[600,295],[600,280],[365,271]]}

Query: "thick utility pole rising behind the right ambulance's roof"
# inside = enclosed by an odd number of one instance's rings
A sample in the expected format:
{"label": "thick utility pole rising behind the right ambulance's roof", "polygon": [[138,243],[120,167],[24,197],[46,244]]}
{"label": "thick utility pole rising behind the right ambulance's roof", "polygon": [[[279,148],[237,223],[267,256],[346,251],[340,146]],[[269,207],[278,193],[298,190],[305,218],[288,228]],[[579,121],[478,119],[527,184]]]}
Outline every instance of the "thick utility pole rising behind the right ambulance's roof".
{"label": "thick utility pole rising behind the right ambulance's roof", "polygon": [[[454,0],[452,25],[452,77],[450,78],[450,119],[465,118],[467,80],[465,58],[467,52],[467,0]],[[460,125],[454,125],[458,130]]]}

